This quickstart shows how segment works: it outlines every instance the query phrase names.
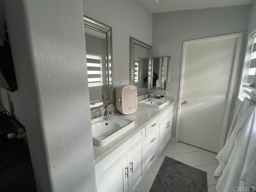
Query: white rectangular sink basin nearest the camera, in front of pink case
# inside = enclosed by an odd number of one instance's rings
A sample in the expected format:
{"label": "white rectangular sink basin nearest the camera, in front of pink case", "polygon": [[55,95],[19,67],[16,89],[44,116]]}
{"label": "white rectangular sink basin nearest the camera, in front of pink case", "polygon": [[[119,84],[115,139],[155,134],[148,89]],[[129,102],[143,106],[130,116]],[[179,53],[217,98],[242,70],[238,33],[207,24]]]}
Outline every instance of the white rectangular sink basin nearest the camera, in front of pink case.
{"label": "white rectangular sink basin nearest the camera, in front of pink case", "polygon": [[109,115],[109,120],[103,116],[92,120],[92,141],[98,146],[105,146],[124,132],[134,127],[134,120]]}

